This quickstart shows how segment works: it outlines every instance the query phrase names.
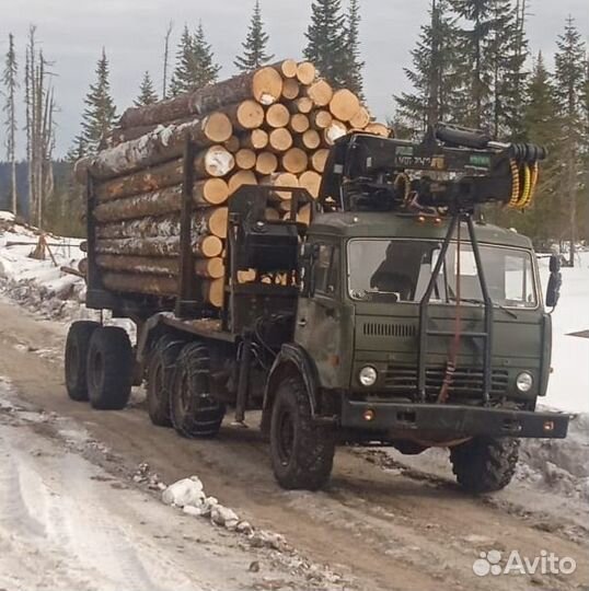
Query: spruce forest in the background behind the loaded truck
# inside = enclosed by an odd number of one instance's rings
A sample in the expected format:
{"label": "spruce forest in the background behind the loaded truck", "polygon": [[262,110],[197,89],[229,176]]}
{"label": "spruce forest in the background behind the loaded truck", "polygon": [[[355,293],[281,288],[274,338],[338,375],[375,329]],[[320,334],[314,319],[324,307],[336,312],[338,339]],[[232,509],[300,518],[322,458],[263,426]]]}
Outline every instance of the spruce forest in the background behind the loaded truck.
{"label": "spruce forest in the background behind the loaded truck", "polygon": [[[335,88],[348,88],[370,103],[363,84],[361,0],[312,0],[300,54]],[[524,213],[489,213],[516,228],[536,247],[589,240],[589,48],[575,16],[554,23],[556,53],[542,55],[528,40],[533,0],[431,0],[420,33],[406,56],[405,92],[390,88],[390,120],[397,137],[418,139],[429,125],[448,121],[485,129],[501,140],[545,146],[550,158],[534,205]],[[579,15],[579,18],[582,15]],[[221,77],[208,40],[215,23],[162,30],[161,61],[140,80],[135,105],[205,86]],[[83,235],[83,194],[72,163],[105,144],[119,116],[111,86],[108,48],[97,48],[94,82],[84,99],[79,134],[55,154],[59,118],[59,63],[45,55],[42,32],[9,34],[2,43],[0,209],[12,210],[45,230]],[[242,44],[227,78],[281,57],[255,0]],[[296,57],[296,56],[294,56]],[[383,53],[383,58],[384,53]],[[91,68],[92,65],[89,65]],[[401,81],[396,81],[397,84]]]}

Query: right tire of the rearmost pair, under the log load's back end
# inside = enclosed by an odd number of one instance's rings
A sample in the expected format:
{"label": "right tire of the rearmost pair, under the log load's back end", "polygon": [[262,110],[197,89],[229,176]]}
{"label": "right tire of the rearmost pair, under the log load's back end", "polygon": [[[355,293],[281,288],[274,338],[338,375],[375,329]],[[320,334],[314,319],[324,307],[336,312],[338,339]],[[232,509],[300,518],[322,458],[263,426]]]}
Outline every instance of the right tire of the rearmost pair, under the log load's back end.
{"label": "right tire of the rearmost pair, under the log load's back end", "polygon": [[131,394],[132,348],[124,328],[96,328],[88,351],[88,393],[99,410],[122,410]]}

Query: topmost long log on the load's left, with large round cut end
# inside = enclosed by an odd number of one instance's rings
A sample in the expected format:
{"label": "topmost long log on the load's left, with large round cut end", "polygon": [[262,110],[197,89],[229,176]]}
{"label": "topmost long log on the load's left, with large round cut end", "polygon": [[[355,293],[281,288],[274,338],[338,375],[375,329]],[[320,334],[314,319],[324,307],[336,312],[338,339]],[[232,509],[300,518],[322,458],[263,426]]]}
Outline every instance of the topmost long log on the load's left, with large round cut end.
{"label": "topmost long log on the load's left, with large round cut end", "polygon": [[255,99],[268,106],[276,103],[281,94],[280,73],[273,68],[262,68],[169,101],[128,108],[120,119],[120,127],[158,125],[187,117],[201,117],[249,99]]}

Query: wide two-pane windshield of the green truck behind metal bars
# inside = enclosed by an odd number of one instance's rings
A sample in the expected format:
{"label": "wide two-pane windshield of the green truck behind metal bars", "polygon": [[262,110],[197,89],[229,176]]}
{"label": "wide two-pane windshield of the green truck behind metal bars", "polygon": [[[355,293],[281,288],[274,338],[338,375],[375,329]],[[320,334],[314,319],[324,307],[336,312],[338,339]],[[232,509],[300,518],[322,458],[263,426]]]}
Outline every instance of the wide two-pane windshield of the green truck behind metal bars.
{"label": "wide two-pane windshield of the green truck behind metal bars", "polygon": [[[419,302],[440,255],[441,243],[420,240],[351,240],[348,244],[348,289],[358,301]],[[531,253],[516,248],[481,245],[481,257],[489,294],[505,308],[536,308],[536,283]],[[457,244],[442,266],[432,302],[457,299]],[[483,300],[474,254],[461,245],[461,299]]]}

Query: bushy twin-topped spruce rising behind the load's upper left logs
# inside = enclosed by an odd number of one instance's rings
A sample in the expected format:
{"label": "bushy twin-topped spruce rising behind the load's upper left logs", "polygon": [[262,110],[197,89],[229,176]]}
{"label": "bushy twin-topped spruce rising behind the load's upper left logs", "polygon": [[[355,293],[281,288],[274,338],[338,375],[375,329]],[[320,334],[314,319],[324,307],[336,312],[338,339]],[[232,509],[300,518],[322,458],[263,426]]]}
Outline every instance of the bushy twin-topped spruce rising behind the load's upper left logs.
{"label": "bushy twin-topped spruce rising behind the load's upper left logs", "polygon": [[198,25],[194,35],[185,25],[178,45],[170,93],[177,96],[212,84],[217,81],[220,70],[220,66],[215,62],[211,46],[205,38],[203,23]]}

